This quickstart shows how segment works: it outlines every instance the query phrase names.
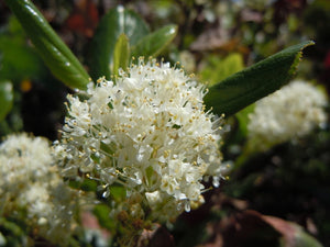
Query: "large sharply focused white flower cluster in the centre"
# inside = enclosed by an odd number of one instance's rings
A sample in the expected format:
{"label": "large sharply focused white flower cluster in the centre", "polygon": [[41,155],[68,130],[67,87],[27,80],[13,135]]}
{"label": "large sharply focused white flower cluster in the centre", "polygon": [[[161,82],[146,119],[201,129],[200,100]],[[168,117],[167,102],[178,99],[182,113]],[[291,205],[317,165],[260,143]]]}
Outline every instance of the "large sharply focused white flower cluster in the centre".
{"label": "large sharply focused white flower cluster in the centre", "polygon": [[66,176],[98,179],[106,197],[122,184],[151,207],[169,203],[180,212],[202,201],[204,178],[219,186],[221,119],[205,111],[205,87],[182,69],[139,58],[116,82],[100,79],[86,93],[87,100],[68,96],[55,145]]}

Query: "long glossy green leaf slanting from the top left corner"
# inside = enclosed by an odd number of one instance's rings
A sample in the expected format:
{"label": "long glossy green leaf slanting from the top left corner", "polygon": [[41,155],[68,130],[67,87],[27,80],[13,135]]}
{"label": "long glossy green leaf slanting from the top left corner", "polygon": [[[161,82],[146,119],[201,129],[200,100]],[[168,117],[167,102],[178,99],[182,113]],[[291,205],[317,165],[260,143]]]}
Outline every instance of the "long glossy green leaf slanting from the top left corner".
{"label": "long glossy green leaf slanting from the top left corner", "polygon": [[6,0],[51,71],[70,88],[85,89],[89,76],[29,0]]}

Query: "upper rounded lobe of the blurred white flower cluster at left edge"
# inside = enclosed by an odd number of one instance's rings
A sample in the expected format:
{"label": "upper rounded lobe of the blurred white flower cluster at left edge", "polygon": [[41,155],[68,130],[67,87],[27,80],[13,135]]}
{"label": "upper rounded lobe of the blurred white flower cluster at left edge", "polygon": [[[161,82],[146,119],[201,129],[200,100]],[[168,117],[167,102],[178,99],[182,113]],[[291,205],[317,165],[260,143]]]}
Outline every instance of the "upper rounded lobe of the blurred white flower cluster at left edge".
{"label": "upper rounded lobe of the blurred white flower cluster at left edge", "polygon": [[[52,164],[45,138],[26,134],[11,135],[0,145],[0,188],[3,193],[19,194],[31,182],[46,181]],[[15,184],[15,186],[13,186]]]}

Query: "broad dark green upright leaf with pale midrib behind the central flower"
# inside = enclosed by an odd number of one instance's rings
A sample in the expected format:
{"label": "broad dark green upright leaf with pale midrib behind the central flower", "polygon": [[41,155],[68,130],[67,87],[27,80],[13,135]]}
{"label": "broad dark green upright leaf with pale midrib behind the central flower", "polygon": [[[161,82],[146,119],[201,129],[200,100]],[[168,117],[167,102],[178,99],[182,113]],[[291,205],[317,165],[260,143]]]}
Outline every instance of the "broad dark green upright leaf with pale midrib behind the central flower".
{"label": "broad dark green upright leaf with pale midrib behind the central flower", "polygon": [[148,27],[136,13],[123,7],[110,10],[100,21],[89,49],[89,68],[94,80],[103,76],[110,79],[114,45],[122,33],[133,46],[148,34]]}

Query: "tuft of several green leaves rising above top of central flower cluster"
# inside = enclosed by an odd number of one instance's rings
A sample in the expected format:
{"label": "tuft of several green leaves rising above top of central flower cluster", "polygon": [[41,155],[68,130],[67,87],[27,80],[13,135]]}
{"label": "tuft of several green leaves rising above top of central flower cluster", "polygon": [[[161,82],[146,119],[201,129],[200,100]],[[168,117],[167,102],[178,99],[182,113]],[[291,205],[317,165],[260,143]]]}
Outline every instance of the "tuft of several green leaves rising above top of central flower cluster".
{"label": "tuft of several green leaves rising above top of central flower cluster", "polygon": [[131,54],[136,57],[160,55],[176,33],[176,25],[166,25],[150,33],[145,22],[133,11],[122,7],[110,10],[99,23],[90,45],[91,78],[97,80],[105,76],[110,79],[112,74],[117,75],[118,68],[125,69]]}

